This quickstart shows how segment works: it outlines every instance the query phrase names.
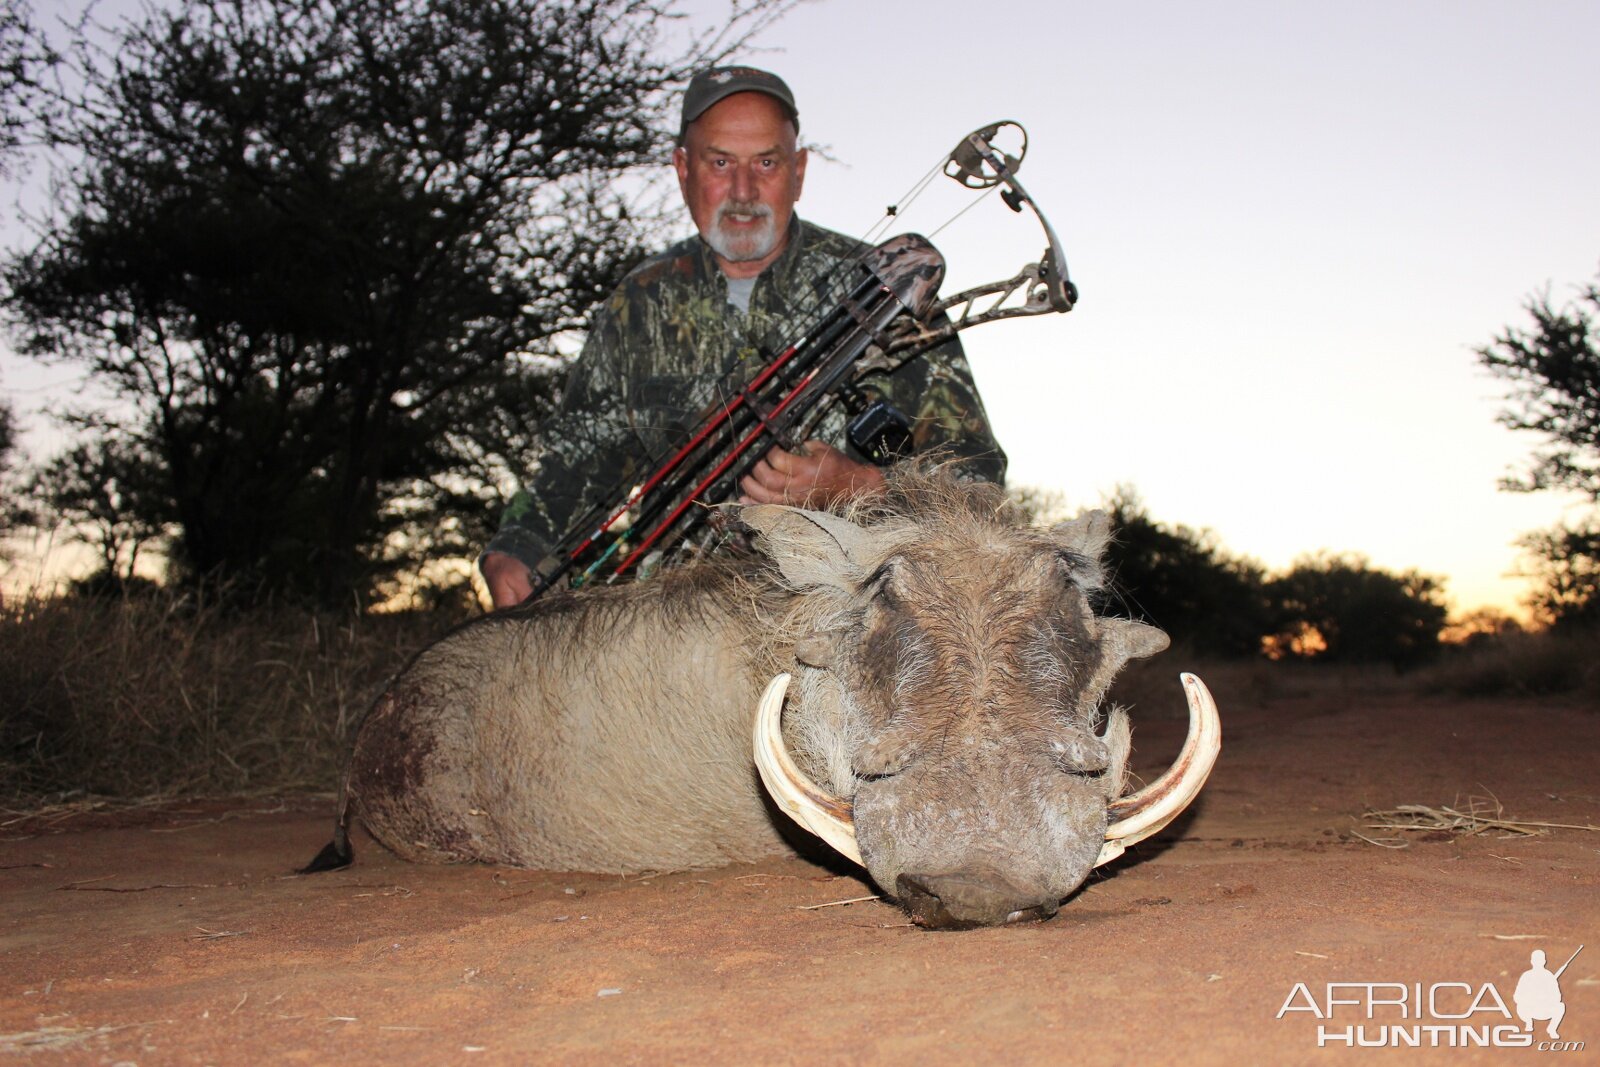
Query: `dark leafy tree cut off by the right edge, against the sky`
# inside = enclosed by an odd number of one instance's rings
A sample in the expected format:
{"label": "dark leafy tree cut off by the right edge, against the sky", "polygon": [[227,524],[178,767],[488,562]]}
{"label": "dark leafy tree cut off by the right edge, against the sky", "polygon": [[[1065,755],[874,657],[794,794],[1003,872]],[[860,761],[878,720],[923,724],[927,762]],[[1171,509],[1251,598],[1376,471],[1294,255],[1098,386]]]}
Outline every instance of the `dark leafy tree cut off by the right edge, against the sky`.
{"label": "dark leafy tree cut off by the right edge, against the sky", "polygon": [[[1600,504],[1600,283],[1565,307],[1547,294],[1525,304],[1531,330],[1509,326],[1478,349],[1491,374],[1510,386],[1498,421],[1541,435],[1530,469],[1507,477],[1515,493],[1571,490]],[[1538,582],[1531,606],[1554,624],[1600,621],[1600,517],[1560,525],[1520,541]]]}

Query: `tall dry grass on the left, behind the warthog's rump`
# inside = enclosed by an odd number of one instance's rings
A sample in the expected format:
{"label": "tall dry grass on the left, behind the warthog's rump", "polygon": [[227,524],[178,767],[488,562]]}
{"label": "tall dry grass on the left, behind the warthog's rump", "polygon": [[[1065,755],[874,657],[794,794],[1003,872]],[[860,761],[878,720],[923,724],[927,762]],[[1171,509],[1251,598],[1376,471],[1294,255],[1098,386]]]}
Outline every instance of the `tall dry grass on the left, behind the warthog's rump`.
{"label": "tall dry grass on the left, behind the warthog's rump", "polygon": [[0,606],[0,803],[334,785],[346,731],[454,619],[197,597]]}

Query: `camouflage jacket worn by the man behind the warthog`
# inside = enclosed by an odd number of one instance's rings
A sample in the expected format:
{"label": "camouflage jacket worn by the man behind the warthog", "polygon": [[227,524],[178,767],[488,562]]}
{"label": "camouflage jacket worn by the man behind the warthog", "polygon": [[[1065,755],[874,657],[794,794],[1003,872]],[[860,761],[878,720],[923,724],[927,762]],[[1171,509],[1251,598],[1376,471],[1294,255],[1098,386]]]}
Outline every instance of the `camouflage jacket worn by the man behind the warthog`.
{"label": "camouflage jacket worn by the man behind the warthog", "polygon": [[[688,440],[718,387],[741,386],[808,315],[838,302],[848,278],[840,262],[859,248],[795,218],[782,254],[757,278],[747,312],[728,304],[726,277],[698,235],[635,267],[595,312],[539,467],[506,507],[485,552],[546,569],[539,565],[587,509],[621,499]],[[914,419],[915,451],[938,448],[971,477],[1005,478],[1006,458],[989,432],[960,341],[859,386]],[[814,437],[867,462],[850,446],[846,422],[832,405]]]}

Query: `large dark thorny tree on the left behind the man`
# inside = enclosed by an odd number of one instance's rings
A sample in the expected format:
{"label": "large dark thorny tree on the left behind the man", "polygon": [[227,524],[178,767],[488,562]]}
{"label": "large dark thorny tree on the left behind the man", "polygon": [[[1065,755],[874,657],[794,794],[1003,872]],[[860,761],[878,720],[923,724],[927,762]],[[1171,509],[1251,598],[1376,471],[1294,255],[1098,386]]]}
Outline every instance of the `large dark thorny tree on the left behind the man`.
{"label": "large dark thorny tree on the left behind the man", "polygon": [[638,0],[178,0],[69,54],[67,208],[10,261],[26,352],[88,368],[157,466],[182,574],[323,601],[462,550],[560,339],[656,238],[618,178],[666,90]]}

